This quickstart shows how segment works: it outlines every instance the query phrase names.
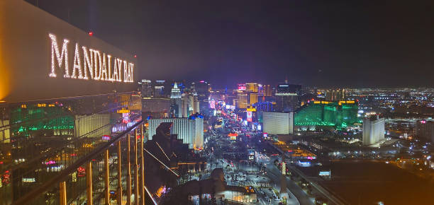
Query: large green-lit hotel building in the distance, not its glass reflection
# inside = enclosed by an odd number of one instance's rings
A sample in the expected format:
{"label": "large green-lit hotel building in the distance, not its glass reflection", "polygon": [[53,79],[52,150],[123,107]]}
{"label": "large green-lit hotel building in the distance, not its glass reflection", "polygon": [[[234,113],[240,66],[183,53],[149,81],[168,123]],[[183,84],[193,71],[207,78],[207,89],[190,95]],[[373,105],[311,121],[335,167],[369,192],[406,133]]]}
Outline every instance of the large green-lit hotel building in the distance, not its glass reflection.
{"label": "large green-lit hotel building in the distance, not its glass reflection", "polygon": [[326,126],[342,129],[360,123],[354,101],[314,101],[294,113],[294,126]]}

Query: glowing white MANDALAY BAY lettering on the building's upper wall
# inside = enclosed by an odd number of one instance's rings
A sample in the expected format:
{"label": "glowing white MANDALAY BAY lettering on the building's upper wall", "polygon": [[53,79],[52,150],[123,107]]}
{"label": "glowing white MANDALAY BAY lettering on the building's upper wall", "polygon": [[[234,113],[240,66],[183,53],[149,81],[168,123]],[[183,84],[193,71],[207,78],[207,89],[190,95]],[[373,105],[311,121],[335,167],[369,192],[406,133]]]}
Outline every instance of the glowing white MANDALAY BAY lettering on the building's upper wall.
{"label": "glowing white MANDALAY BAY lettering on the building's upper wall", "polygon": [[51,78],[57,77],[57,68],[65,69],[63,78],[133,83],[133,63],[94,48],[80,47],[76,42],[74,60],[70,66],[72,61],[68,59],[69,40],[63,39],[60,48],[56,35],[50,33],[48,37],[51,41],[51,72],[48,76]]}

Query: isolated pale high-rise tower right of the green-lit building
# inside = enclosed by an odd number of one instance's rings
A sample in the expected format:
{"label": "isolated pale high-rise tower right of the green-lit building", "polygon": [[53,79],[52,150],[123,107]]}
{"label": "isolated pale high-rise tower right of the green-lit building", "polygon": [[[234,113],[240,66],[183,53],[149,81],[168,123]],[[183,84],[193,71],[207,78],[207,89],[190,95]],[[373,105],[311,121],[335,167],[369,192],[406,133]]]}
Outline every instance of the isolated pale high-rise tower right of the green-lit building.
{"label": "isolated pale high-rise tower right of the green-lit building", "polygon": [[384,140],[384,118],[363,119],[363,145],[376,144]]}

